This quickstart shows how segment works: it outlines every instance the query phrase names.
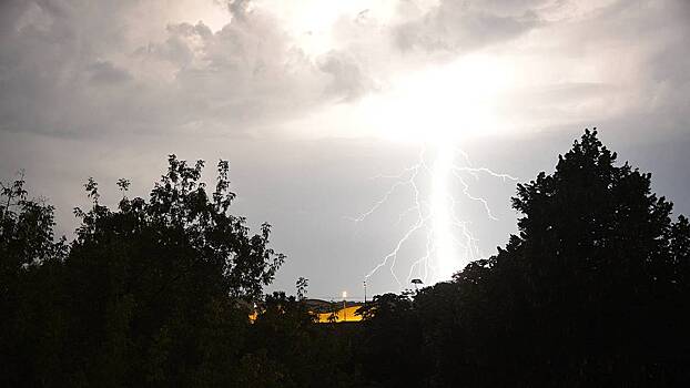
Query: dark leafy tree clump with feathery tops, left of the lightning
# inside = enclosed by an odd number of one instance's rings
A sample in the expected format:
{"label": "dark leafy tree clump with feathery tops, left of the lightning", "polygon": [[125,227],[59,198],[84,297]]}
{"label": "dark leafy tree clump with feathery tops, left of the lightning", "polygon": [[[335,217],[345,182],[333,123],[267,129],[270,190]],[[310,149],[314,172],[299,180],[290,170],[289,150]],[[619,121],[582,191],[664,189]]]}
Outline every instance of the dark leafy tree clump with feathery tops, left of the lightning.
{"label": "dark leafy tree clump with feathery tops, left of the lightning", "polygon": [[75,208],[82,222],[69,253],[52,243],[52,207],[28,201],[21,181],[4,187],[2,276],[16,287],[3,293],[3,335],[11,337],[2,344],[3,382],[233,381],[246,346],[241,300],[261,298],[284,257],[267,246],[267,224],[250,235],[245,218],[229,213],[227,162],[219,163],[211,196],[202,169],[171,155],[149,201],[128,198],[129,182],[120,180],[115,211],[99,202],[90,178],[92,206]]}

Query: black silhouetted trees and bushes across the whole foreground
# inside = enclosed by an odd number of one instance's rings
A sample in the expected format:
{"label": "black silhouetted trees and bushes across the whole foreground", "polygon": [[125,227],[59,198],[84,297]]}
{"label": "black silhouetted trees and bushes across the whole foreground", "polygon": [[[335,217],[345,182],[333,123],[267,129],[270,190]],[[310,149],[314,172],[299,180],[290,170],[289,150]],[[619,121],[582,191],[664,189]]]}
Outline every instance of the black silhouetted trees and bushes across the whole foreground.
{"label": "black silhouetted trees and bushes across the whole foreground", "polygon": [[[172,156],[150,198],[92,205],[68,243],[22,180],[0,202],[0,386],[687,386],[690,225],[587,131],[518,185],[518,235],[361,324],[263,295],[284,257],[229,213],[227,163]],[[260,306],[254,323],[247,318]]]}

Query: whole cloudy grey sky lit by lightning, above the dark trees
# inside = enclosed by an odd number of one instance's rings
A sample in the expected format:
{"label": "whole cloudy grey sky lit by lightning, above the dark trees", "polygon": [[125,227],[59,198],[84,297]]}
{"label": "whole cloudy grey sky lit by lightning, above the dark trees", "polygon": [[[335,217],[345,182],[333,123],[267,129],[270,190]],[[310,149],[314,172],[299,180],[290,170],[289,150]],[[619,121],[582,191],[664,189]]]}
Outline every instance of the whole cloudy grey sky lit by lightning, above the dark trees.
{"label": "whole cloudy grey sky lit by lightning, above the dark trees", "polygon": [[227,159],[273,288],[362,297],[495,252],[585,127],[690,214],[689,74],[682,0],[4,0],[0,178],[70,235],[89,176]]}

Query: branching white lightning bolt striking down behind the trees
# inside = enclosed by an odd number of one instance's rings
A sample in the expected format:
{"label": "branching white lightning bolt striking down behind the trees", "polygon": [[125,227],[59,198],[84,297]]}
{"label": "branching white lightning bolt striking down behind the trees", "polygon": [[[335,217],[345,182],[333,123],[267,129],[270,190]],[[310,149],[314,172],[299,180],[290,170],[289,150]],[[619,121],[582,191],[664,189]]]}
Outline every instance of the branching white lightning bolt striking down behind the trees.
{"label": "branching white lightning bolt striking down behind the trees", "polygon": [[[414,215],[410,226],[398,238],[395,246],[365,275],[365,280],[387,267],[390,275],[403,289],[403,283],[396,273],[398,257],[413,239],[423,238],[424,254],[416,257],[408,272],[405,284],[416,274],[425,283],[445,280],[460,268],[460,265],[481,257],[476,238],[469,228],[470,223],[459,214],[460,201],[456,194],[483,206],[487,217],[498,218],[491,212],[488,202],[470,193],[468,178],[478,181],[481,175],[505,181],[516,177],[496,173],[488,167],[476,167],[467,153],[453,144],[437,144],[433,163],[427,163],[428,145],[424,145],[416,162],[396,175],[378,175],[376,178],[390,180],[392,184],[374,205],[357,217],[348,217],[355,223],[365,222],[398,191],[408,187],[412,192],[410,206],[398,216],[399,224],[405,217]],[[423,180],[430,178],[429,194],[420,190]],[[455,190],[455,188],[459,190]],[[455,193],[455,192],[458,193]]]}

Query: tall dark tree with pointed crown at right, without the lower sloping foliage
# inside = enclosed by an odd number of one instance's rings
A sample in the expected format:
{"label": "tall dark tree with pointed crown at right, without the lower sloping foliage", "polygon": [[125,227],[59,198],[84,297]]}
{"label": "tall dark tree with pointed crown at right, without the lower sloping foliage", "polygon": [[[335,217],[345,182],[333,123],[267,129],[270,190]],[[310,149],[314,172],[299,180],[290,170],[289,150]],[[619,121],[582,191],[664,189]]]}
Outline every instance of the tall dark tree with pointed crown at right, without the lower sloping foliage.
{"label": "tall dark tree with pointed crown at right, without the lower sloping foliage", "polygon": [[651,193],[650,174],[616,157],[586,131],[554,174],[519,184],[519,235],[488,263],[501,283],[493,286],[517,296],[520,331],[510,335],[531,339],[529,357],[521,351],[531,367],[520,368],[548,369],[549,382],[658,382],[669,372],[655,370],[653,348],[669,313],[660,303],[680,296],[668,276],[672,205]]}

